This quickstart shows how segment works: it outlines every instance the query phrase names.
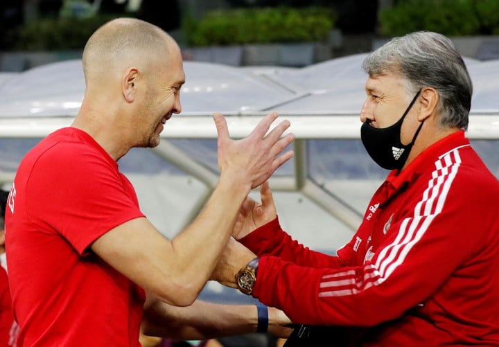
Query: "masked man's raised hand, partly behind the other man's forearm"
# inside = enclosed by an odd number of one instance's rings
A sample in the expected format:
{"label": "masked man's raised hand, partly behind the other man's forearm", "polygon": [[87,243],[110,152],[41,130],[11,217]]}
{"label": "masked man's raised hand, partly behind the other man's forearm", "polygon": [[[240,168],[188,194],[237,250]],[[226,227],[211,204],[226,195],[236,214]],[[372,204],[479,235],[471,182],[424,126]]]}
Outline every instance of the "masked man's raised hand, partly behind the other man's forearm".
{"label": "masked man's raised hand, partly behind the other man's forearm", "polygon": [[254,229],[267,224],[277,216],[274,197],[272,196],[272,190],[270,190],[268,181],[263,182],[260,187],[260,198],[261,204],[249,195],[243,202],[232,231],[232,236],[236,240],[244,238],[247,234],[254,231]]}

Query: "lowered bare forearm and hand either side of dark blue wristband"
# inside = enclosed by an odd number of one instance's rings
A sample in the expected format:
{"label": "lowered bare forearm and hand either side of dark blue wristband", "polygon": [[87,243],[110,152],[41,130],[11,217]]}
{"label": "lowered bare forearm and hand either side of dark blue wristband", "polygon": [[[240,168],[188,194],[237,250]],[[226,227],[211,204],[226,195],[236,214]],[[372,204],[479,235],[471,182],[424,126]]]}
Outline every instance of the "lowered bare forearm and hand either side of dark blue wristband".
{"label": "lowered bare forearm and hand either side of dark blue wristband", "polygon": [[[142,331],[145,335],[174,339],[211,339],[256,332],[256,305],[224,305],[196,300],[180,308],[148,295]],[[291,321],[281,310],[269,308],[269,332],[288,337]]]}

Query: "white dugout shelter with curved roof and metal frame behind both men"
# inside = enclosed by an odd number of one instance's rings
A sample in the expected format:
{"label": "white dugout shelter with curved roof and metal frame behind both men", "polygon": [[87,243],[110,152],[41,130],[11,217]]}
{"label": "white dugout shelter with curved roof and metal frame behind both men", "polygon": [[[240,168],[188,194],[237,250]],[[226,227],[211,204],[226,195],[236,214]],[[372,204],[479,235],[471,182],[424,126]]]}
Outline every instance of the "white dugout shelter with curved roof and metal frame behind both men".
{"label": "white dugout shelter with curved roof and metal frame behind both men", "polygon": [[[358,141],[365,56],[299,69],[184,62],[182,114],[168,121],[159,148],[132,150],[120,160],[143,211],[161,233],[173,237],[200,211],[218,178],[211,114],[225,114],[231,136],[239,137],[261,116],[277,111],[297,135],[295,159],[271,179],[281,224],[309,247],[334,253],[351,238],[387,173]],[[468,136],[499,175],[499,60],[466,59],[466,64],[475,90]],[[39,139],[71,124],[84,88],[80,60],[0,73],[0,183],[10,183]],[[207,296],[234,295],[209,286]]]}

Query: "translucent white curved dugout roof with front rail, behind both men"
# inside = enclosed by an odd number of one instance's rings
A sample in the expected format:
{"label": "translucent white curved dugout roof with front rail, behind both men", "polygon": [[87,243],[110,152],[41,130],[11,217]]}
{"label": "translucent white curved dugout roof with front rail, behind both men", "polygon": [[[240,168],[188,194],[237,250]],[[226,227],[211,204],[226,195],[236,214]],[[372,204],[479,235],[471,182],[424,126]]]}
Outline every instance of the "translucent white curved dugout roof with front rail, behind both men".
{"label": "translucent white curved dugout roof with front rail, behind both men", "polygon": [[[212,137],[214,128],[208,126],[211,118],[206,116],[216,111],[227,116],[261,116],[277,111],[292,116],[293,124],[300,125],[293,130],[297,136],[328,138],[338,135],[341,128],[344,137],[356,138],[358,123],[342,116],[358,116],[365,100],[366,75],[361,69],[365,56],[340,57],[301,69],[184,62],[183,111],[168,123],[163,136]],[[493,137],[499,131],[498,125],[491,124],[489,118],[475,116],[499,114],[499,74],[493,73],[499,69],[499,60],[466,59],[466,64],[475,89],[471,117],[476,119],[471,122],[470,136]],[[70,123],[70,119],[53,118],[75,116],[84,88],[80,60],[47,64],[17,74],[0,73],[1,136],[40,136]],[[187,116],[202,118],[187,120]],[[233,125],[235,136],[246,134],[256,122],[246,124],[242,119]]]}

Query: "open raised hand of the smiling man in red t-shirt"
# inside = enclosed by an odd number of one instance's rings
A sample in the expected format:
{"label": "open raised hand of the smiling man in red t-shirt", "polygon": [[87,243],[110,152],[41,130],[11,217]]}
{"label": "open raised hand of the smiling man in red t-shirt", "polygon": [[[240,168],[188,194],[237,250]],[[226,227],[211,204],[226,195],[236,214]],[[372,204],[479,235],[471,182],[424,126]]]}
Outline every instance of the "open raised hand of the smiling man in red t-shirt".
{"label": "open raised hand of the smiling man in red t-shirt", "polygon": [[282,121],[267,134],[276,119],[277,113],[268,114],[249,136],[233,140],[229,136],[224,116],[213,114],[218,134],[218,168],[221,175],[232,172],[238,176],[241,184],[250,184],[251,188],[255,188],[292,158],[292,150],[282,153],[295,140],[294,134],[281,137],[290,127],[289,121]]}

